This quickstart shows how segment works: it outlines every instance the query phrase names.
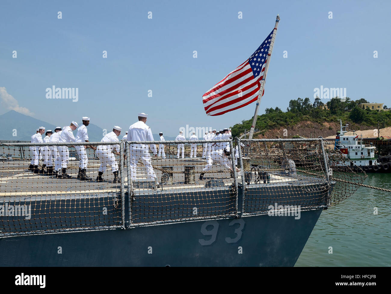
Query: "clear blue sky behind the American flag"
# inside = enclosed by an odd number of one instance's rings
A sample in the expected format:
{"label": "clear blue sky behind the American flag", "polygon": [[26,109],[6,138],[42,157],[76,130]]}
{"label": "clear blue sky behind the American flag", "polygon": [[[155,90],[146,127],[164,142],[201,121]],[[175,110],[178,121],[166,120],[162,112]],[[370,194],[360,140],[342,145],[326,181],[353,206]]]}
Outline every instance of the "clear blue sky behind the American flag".
{"label": "clear blue sky behind the American flag", "polygon": [[[255,104],[208,117],[202,95],[255,51],[277,13],[260,114],[298,97],[313,101],[321,85],[390,106],[390,8],[389,1],[2,0],[0,114],[19,107],[60,126],[90,116],[109,129],[128,128],[145,112],[152,132],[169,136],[187,124],[232,126],[250,119]],[[46,99],[53,85],[79,88],[79,101]]]}

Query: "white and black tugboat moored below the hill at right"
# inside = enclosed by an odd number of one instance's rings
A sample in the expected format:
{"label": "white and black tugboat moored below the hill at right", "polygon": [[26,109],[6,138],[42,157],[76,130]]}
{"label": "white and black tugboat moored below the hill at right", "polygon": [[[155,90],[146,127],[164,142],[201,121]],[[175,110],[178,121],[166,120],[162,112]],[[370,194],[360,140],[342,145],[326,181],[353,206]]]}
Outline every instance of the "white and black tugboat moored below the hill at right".
{"label": "white and black tugboat moored below the hill at right", "polygon": [[366,173],[389,173],[391,172],[391,162],[379,162],[375,155],[376,147],[366,146],[359,139],[359,135],[345,135],[349,124],[342,125],[339,119],[341,129],[335,136],[334,150],[339,150],[346,157],[346,160],[341,158],[330,157],[330,166],[334,170],[343,170],[350,166],[355,171],[365,171]]}

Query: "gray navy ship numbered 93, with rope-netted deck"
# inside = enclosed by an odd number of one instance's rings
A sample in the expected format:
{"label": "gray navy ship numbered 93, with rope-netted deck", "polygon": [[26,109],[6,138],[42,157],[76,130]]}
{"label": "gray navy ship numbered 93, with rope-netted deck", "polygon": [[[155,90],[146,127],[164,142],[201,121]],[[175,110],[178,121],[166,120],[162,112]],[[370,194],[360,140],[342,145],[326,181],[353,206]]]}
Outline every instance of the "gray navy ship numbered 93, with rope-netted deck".
{"label": "gray navy ship numbered 93, with rope-netted deck", "polygon": [[[0,166],[0,265],[293,266],[321,212],[357,189],[346,180],[365,179],[331,174],[326,157],[338,153],[321,139],[223,142],[235,150],[227,157],[232,171],[213,165],[199,179],[205,141],[165,141],[167,158],[152,160],[151,181],[141,162],[132,180],[129,146],[161,142],[122,141],[120,184],[109,168],[104,182],[76,179],[72,162],[71,179],[28,170],[29,146],[81,143],[0,144],[8,155]],[[179,143],[198,144],[197,157],[177,159]],[[316,148],[311,164],[303,144]],[[87,150],[94,179],[99,165]]]}

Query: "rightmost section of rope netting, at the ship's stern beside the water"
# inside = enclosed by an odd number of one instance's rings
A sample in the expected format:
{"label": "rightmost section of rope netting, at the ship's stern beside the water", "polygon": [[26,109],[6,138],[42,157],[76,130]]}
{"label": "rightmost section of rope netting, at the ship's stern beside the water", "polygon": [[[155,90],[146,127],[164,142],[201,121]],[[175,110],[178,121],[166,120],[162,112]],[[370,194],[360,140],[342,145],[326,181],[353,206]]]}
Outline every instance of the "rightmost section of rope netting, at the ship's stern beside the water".
{"label": "rightmost section of rope netting, at the ship's stern beside the water", "polygon": [[343,155],[328,146],[323,152],[319,139],[240,142],[244,145],[242,161],[248,183],[244,213],[333,206],[351,196],[358,188],[355,183],[366,178],[364,173],[355,173],[349,167],[328,171],[328,158]]}

